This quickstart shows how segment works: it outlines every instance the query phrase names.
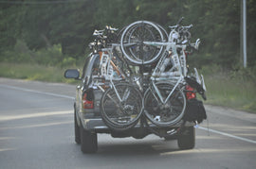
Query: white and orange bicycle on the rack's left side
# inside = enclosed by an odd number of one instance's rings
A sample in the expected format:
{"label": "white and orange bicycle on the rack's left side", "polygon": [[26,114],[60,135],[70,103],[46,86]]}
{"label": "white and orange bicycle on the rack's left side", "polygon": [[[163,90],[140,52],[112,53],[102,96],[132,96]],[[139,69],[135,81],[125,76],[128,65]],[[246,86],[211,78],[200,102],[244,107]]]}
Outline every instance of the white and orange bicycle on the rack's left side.
{"label": "white and orange bicycle on the rack's left side", "polygon": [[[117,30],[107,27],[107,31]],[[142,94],[135,85],[125,81],[125,75],[119,65],[113,61],[113,51],[119,44],[108,41],[107,36],[102,36],[104,31],[95,31],[96,40],[102,42],[102,47],[96,53],[101,56],[101,76],[92,76],[92,86],[97,86],[103,92],[101,96],[101,117],[105,124],[114,130],[127,130],[137,125],[143,112]],[[114,41],[113,41],[114,40]],[[98,80],[103,79],[103,83]],[[108,83],[108,84],[107,84]],[[107,87],[106,87],[107,84]]]}

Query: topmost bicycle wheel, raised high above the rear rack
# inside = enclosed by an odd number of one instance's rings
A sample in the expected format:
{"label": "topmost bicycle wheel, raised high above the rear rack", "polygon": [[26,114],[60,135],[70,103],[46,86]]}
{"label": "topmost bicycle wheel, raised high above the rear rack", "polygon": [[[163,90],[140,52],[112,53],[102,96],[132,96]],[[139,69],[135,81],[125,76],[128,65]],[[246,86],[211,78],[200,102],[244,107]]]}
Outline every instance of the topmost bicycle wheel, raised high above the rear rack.
{"label": "topmost bicycle wheel, raised high above the rear rack", "polygon": [[154,62],[162,53],[163,46],[147,45],[143,42],[164,42],[165,35],[154,23],[137,21],[128,25],[121,35],[121,50],[124,57],[136,64]]}

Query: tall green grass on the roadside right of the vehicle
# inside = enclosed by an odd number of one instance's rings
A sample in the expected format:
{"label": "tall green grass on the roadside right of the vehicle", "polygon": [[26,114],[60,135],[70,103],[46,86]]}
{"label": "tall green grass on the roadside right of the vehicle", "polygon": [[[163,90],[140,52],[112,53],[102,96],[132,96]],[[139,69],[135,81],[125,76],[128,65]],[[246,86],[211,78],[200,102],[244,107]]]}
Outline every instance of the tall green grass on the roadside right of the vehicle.
{"label": "tall green grass on the roadside right of the vehicle", "polygon": [[[203,69],[202,72],[204,71]],[[206,104],[256,113],[255,79],[250,78],[247,73],[234,75],[234,72],[227,72],[218,68],[208,71],[205,71],[208,96]]]}

